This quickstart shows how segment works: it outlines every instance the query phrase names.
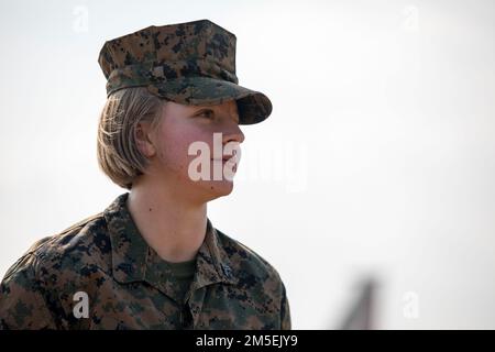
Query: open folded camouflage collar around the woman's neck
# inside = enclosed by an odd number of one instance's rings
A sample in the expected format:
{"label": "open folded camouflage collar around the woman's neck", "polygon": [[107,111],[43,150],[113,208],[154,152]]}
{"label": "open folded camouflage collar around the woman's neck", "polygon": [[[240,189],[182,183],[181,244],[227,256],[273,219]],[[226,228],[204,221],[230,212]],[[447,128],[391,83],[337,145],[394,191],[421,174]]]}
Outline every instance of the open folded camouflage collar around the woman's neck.
{"label": "open folded camouflage collar around the woman's neck", "polygon": [[[120,283],[146,280],[166,290],[167,273],[156,273],[160,257],[141,235],[127,206],[129,193],[117,197],[103,211],[112,244],[112,275]],[[205,240],[196,257],[191,290],[216,283],[235,284],[235,275],[217,230],[207,218]]]}

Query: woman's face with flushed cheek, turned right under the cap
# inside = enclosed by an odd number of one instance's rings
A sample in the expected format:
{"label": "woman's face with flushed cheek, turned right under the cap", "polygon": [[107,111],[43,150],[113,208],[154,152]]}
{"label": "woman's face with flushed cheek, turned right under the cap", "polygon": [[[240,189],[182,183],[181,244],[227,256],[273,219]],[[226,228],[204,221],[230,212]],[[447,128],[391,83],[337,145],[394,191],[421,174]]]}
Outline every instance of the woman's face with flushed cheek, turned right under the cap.
{"label": "woman's face with flushed cheek, turned right under the cap", "polygon": [[[217,143],[215,133],[221,133]],[[234,100],[216,106],[169,101],[163,108],[160,125],[155,130],[148,125],[147,135],[144,150],[150,167],[145,177],[153,178],[155,184],[172,185],[182,196],[200,202],[232,191],[232,177],[223,170],[235,170],[239,161],[227,161],[232,152],[226,145],[239,147],[244,141]],[[198,179],[198,172],[202,179]]]}

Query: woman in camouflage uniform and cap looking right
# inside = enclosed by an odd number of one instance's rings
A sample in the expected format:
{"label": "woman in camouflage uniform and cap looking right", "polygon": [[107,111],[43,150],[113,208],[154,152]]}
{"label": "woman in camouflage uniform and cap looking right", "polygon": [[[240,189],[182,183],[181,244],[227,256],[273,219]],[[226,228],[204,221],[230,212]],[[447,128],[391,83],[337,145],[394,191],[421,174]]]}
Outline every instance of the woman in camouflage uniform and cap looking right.
{"label": "woman in camouflage uniform and cap looking right", "polygon": [[103,45],[98,162],[130,193],[7,272],[0,328],[290,329],[277,271],[207,217],[232,191],[239,125],[272,112],[238,85],[235,40],[200,20]]}

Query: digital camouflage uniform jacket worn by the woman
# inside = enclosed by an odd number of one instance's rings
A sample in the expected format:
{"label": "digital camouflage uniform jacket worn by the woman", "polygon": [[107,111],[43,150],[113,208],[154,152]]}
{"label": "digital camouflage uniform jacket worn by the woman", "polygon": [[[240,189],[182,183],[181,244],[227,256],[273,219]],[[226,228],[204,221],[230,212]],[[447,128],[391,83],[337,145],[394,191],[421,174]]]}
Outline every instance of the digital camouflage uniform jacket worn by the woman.
{"label": "digital camouflage uniform jacket worn by the woman", "polygon": [[[38,241],[7,272],[1,329],[290,329],[276,270],[209,219],[182,302],[132,220],[128,196]],[[88,318],[74,315],[78,292],[88,295]]]}

